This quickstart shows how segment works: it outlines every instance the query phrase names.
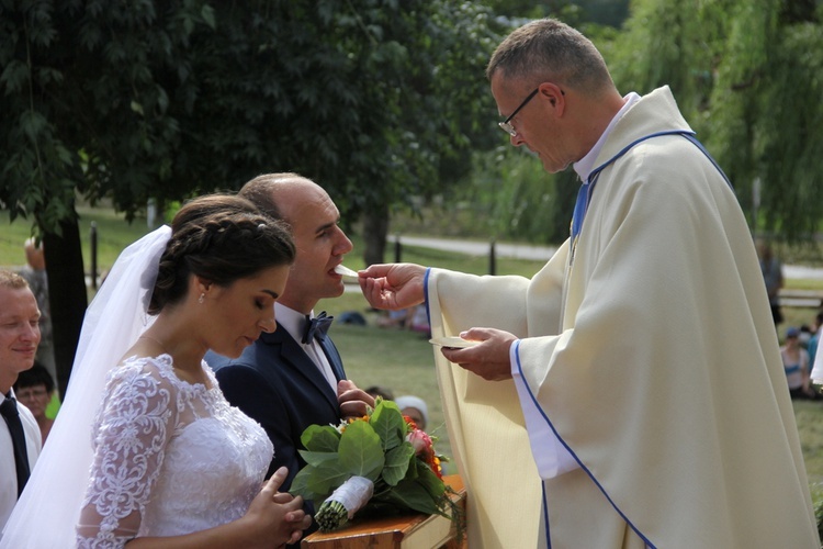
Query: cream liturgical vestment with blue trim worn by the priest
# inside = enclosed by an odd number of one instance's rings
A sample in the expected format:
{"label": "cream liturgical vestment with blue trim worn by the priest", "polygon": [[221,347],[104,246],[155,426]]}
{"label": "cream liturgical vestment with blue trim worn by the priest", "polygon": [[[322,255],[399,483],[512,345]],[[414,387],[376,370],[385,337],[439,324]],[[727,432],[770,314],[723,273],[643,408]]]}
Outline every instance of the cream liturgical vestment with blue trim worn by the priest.
{"label": "cream liturgical vestment with blue trim worn by the priest", "polygon": [[576,246],[531,280],[427,273],[433,336],[520,338],[522,400],[435,354],[473,549],[820,547],[734,192],[683,135],[620,154],[672,131],[690,128],[668,88],[622,115]]}

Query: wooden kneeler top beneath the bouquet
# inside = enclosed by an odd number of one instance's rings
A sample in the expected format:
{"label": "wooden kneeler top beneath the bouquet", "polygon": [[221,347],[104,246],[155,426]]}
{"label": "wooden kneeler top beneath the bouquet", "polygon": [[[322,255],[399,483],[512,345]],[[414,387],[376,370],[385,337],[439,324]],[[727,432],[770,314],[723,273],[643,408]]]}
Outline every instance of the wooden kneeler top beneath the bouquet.
{"label": "wooden kneeler top beneath the bouquet", "polygon": [[[456,495],[452,496],[465,511],[465,489],[456,474],[444,477]],[[339,530],[326,534],[316,531],[301,542],[301,549],[462,549],[456,541],[451,520],[439,515],[413,514],[352,522]]]}

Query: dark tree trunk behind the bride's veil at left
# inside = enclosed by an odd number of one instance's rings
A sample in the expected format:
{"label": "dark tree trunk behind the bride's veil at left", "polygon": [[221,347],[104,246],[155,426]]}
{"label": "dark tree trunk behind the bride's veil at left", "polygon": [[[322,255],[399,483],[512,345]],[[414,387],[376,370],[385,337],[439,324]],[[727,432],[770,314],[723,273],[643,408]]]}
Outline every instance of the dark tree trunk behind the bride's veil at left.
{"label": "dark tree trunk behind the bride's veil at left", "polygon": [[46,233],[43,247],[48,276],[48,303],[60,397],[66,396],[83,315],[88,305],[80,229],[77,221],[60,223],[63,236]]}

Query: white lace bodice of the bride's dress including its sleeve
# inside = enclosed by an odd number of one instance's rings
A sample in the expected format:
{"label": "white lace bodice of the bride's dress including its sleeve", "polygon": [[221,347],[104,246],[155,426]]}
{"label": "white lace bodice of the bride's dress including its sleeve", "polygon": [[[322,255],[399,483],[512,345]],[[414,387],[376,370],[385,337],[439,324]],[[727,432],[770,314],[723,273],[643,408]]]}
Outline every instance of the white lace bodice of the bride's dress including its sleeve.
{"label": "white lace bodice of the bride's dress including its sleeve", "polygon": [[168,355],[131,358],[109,374],[78,547],[189,534],[246,513],[273,448],[203,369],[211,390],[178,379]]}

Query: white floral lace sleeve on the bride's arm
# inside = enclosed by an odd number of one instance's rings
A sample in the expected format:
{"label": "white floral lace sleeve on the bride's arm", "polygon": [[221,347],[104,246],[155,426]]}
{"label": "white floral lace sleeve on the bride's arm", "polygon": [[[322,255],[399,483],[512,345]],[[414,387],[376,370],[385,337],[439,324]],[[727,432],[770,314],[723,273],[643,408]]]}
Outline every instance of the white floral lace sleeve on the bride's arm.
{"label": "white floral lace sleeve on the bride's arm", "polygon": [[94,459],[78,547],[123,547],[137,535],[174,432],[173,403],[172,385],[155,367],[113,370],[92,430]]}

